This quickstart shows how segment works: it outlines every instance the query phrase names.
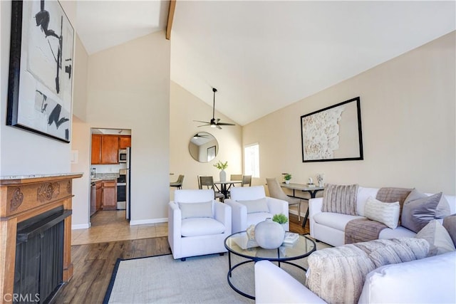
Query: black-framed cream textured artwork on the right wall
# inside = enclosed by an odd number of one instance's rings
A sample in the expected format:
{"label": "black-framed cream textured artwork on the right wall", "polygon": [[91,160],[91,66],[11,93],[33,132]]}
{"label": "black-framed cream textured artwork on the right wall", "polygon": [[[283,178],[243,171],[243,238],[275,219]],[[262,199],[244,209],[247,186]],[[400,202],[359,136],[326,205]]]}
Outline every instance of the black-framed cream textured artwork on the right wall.
{"label": "black-framed cream textured artwork on the right wall", "polygon": [[301,116],[303,162],[363,159],[360,98]]}

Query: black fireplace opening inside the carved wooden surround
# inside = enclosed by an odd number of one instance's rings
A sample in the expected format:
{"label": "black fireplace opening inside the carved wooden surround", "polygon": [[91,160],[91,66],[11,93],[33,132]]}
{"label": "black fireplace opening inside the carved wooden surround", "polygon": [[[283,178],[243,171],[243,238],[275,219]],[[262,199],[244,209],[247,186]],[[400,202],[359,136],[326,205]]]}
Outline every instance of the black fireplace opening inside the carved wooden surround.
{"label": "black fireplace opening inside the carved wooden surround", "polygon": [[63,284],[64,219],[60,206],[17,225],[15,303],[49,303]]}

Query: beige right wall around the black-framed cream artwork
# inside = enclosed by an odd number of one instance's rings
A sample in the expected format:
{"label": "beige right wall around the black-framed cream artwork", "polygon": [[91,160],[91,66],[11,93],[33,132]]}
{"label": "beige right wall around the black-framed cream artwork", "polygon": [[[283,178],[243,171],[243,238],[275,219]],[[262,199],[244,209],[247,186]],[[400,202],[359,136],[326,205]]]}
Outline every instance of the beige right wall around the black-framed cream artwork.
{"label": "beige right wall around the black-framed cream artwork", "polygon": [[[455,49],[453,32],[244,126],[243,145],[260,145],[259,182],[324,173],[329,183],[454,195]],[[356,96],[364,160],[303,163],[300,116]]]}

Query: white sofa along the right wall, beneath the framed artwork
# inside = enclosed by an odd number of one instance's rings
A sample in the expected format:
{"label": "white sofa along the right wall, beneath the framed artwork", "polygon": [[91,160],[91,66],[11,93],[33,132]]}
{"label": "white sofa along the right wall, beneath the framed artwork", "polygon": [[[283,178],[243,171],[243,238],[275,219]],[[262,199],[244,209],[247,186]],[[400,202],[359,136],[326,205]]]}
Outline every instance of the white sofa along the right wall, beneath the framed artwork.
{"label": "white sofa along the right wall, beneath the framed artwork", "polygon": [[[363,218],[364,206],[369,196],[375,198],[378,188],[358,187],[356,197],[356,212],[358,215],[338,214],[333,212],[322,212],[323,198],[309,200],[309,224],[311,236],[332,246],[342,246],[345,243],[345,226],[348,221]],[[430,194],[427,194],[430,195]],[[451,213],[456,213],[456,196],[445,195],[450,204]],[[413,237],[415,232],[398,226],[396,229],[386,228],[380,232],[379,239],[393,239],[400,237]]]}

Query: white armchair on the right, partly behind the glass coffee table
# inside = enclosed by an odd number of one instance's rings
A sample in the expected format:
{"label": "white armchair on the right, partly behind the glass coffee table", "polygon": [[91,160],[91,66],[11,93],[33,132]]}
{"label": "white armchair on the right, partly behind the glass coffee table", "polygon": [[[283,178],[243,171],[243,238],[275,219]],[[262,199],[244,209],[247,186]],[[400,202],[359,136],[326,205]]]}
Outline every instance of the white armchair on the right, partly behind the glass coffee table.
{"label": "white armchair on the right, partly behind the glass coffee table", "polygon": [[[232,232],[244,231],[274,214],[288,215],[288,202],[266,196],[264,186],[234,187],[224,203],[232,209]],[[285,224],[289,231],[289,221]]]}

